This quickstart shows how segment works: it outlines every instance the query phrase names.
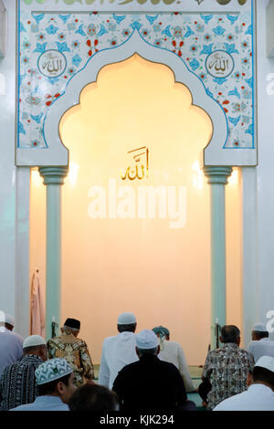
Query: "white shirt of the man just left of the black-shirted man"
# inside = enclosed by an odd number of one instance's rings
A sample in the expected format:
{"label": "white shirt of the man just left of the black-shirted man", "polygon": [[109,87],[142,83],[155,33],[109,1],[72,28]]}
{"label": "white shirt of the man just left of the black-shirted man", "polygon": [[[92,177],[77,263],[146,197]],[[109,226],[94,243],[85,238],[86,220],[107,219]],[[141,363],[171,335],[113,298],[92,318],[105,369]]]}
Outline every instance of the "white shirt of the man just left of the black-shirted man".
{"label": "white shirt of the man just left of the black-shirted man", "polygon": [[112,384],[121,369],[138,361],[135,351],[136,340],[133,332],[121,332],[106,338],[102,345],[98,384],[112,389]]}

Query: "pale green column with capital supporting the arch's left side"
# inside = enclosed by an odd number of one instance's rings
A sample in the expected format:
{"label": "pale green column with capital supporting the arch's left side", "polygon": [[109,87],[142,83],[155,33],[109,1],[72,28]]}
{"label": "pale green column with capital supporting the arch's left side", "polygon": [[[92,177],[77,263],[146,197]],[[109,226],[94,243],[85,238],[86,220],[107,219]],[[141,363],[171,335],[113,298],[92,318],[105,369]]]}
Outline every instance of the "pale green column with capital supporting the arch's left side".
{"label": "pale green column with capital supporting the arch's left side", "polygon": [[52,320],[60,326],[61,304],[61,185],[68,167],[40,167],[47,186],[46,338],[51,338]]}

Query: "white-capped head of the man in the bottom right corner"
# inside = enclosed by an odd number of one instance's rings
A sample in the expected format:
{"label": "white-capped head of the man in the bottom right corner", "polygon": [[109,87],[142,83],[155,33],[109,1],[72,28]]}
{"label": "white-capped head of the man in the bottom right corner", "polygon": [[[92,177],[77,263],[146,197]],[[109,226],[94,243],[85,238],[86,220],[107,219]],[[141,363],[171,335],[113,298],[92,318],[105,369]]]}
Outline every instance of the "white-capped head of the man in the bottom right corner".
{"label": "white-capped head of the man in the bottom right corner", "polygon": [[248,375],[248,385],[265,384],[274,391],[274,358],[262,356]]}

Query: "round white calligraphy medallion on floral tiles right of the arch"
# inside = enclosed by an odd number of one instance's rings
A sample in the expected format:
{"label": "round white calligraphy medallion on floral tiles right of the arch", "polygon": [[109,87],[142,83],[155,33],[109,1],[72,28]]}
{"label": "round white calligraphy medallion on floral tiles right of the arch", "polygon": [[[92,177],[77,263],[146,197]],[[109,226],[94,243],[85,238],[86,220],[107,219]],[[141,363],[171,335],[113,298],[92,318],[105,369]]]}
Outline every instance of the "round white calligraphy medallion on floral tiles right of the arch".
{"label": "round white calligraphy medallion on floral tiles right of the arch", "polygon": [[211,76],[227,78],[233,71],[234,59],[226,51],[216,50],[206,58],[205,67]]}

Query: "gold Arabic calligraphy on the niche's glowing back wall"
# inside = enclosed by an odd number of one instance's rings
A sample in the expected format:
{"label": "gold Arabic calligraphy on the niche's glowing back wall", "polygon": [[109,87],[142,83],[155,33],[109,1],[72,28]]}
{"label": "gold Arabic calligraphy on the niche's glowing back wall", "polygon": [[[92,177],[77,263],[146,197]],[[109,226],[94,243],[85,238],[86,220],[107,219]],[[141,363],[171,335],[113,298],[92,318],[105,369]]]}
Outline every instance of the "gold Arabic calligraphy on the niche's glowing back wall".
{"label": "gold Arabic calligraphy on the niche's glowing back wall", "polygon": [[149,150],[146,146],[133,149],[128,152],[132,157],[131,164],[126,168],[124,173],[120,173],[121,180],[142,180],[148,177],[149,168]]}

